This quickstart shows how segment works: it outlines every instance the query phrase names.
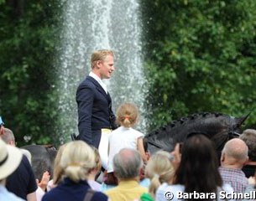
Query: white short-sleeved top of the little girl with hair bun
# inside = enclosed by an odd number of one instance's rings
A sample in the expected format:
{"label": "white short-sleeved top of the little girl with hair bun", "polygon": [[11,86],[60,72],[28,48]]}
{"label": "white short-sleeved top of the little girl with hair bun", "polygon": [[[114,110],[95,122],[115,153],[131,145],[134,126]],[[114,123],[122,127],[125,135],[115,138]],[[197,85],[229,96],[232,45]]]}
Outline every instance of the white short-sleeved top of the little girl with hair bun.
{"label": "white short-sleeved top of the little girl with hair bun", "polygon": [[139,137],[144,137],[144,134],[131,127],[120,126],[112,131],[109,137],[107,173],[113,172],[112,159],[121,149],[133,148],[137,150],[137,140]]}

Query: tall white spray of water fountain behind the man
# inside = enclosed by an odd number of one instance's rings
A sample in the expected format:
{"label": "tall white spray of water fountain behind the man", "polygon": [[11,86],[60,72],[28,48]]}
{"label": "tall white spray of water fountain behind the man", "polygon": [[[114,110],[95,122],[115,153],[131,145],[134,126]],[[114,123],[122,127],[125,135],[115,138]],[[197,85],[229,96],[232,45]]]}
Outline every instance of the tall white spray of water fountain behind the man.
{"label": "tall white spray of water fountain behind the man", "polygon": [[[64,1],[64,0],[63,0]],[[106,80],[113,111],[124,101],[138,105],[137,129],[145,131],[143,54],[141,20],[137,0],[69,0],[63,2],[64,16],[59,49],[57,93],[60,95],[58,136],[65,142],[77,131],[76,87],[90,71],[95,49],[112,49],[116,71]]]}

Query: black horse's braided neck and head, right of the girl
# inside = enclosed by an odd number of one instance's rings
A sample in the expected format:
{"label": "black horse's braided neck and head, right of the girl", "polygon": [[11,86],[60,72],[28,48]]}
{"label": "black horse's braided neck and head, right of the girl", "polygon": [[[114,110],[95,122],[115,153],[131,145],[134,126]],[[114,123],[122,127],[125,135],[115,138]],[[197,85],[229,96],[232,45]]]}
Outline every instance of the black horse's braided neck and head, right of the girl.
{"label": "black horse's braided neck and head, right of the girl", "polygon": [[172,121],[167,126],[149,133],[145,138],[149,152],[154,153],[159,149],[171,152],[177,142],[184,142],[186,137],[201,133],[212,139],[217,152],[221,152],[228,139],[239,136],[243,121],[247,117],[235,118],[216,112],[194,114]]}

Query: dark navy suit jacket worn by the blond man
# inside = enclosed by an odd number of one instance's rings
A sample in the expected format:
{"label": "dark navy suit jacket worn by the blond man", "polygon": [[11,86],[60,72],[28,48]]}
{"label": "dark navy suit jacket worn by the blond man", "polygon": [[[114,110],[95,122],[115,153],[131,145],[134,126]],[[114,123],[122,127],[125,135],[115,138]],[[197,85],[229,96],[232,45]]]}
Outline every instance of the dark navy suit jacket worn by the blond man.
{"label": "dark navy suit jacket worn by the blond man", "polygon": [[102,86],[87,76],[76,90],[78,108],[79,140],[93,147],[98,147],[101,141],[102,128],[115,129],[115,116],[112,112],[112,100]]}

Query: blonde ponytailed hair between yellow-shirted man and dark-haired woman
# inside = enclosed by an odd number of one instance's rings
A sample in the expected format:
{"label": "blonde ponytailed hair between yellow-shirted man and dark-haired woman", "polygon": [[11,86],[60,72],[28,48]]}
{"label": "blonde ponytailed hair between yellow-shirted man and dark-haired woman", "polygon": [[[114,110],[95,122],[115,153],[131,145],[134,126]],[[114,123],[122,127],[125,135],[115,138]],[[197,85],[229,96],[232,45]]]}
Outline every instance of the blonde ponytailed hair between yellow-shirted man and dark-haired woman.
{"label": "blonde ponytailed hair between yellow-shirted man and dark-haired woman", "polygon": [[155,195],[161,183],[170,183],[174,177],[173,157],[169,152],[159,151],[149,158],[145,168],[146,177],[150,178],[149,193]]}

